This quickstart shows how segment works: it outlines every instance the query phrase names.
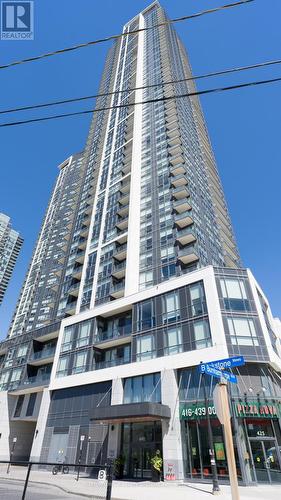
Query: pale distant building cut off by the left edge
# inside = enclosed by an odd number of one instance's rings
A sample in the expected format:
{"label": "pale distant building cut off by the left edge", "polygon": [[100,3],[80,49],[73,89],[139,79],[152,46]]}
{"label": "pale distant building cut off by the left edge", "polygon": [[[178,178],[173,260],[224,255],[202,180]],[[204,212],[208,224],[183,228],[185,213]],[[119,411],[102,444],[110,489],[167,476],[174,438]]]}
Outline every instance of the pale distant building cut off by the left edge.
{"label": "pale distant building cut off by the left edge", "polygon": [[11,220],[0,213],[0,304],[11,279],[23,239],[12,229]]}

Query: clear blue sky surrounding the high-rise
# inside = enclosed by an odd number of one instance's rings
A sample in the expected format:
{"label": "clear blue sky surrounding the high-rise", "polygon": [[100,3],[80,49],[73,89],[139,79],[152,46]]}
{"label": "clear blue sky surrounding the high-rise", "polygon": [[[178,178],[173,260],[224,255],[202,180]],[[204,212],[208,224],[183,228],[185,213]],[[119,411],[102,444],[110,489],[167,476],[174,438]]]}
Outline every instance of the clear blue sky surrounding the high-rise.
{"label": "clear blue sky surrounding the high-rise", "polygon": [[[146,0],[35,0],[34,41],[0,41],[0,64],[119,33],[149,5]],[[170,17],[213,8],[230,0],[163,0]],[[194,74],[281,57],[281,2],[248,5],[178,23]],[[109,43],[0,71],[0,110],[52,99],[93,94]],[[211,88],[281,76],[281,65],[200,81]],[[239,249],[281,316],[281,83],[202,97]],[[92,102],[58,107],[90,109]],[[40,110],[47,116],[50,111]],[[23,112],[0,122],[35,116]],[[37,115],[36,115],[37,116]],[[12,217],[24,246],[0,307],[0,338],[18,298],[57,165],[84,147],[90,115],[0,129],[0,212]]]}

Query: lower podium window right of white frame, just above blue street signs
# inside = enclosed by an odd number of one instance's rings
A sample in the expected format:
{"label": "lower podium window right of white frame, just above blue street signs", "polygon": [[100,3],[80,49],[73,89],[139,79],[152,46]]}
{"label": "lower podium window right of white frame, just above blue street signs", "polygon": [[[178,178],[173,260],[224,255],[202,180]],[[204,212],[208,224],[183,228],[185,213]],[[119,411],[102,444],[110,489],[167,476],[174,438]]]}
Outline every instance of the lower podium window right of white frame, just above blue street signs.
{"label": "lower podium window right of white frame, just above blue street signs", "polygon": [[259,341],[254,320],[251,318],[227,318],[231,343],[233,345],[258,346]]}

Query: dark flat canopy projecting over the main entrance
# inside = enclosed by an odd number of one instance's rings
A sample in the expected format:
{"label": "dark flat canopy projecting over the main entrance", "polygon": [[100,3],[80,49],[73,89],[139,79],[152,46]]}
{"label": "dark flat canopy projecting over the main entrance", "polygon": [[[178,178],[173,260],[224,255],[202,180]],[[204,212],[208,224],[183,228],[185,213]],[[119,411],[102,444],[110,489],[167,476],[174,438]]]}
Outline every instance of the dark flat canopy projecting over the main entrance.
{"label": "dark flat canopy projecting over the main entrance", "polygon": [[94,408],[91,420],[107,423],[144,422],[163,420],[171,417],[170,408],[160,403],[129,403]]}

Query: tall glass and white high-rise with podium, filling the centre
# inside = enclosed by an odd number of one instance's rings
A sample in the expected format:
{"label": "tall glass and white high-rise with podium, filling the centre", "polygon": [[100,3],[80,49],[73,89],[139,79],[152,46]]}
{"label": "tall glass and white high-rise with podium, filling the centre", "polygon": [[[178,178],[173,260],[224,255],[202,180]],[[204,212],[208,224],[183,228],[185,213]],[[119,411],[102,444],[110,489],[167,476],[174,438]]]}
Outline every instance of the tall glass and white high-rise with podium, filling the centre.
{"label": "tall glass and white high-rise with podium, filling the centre", "polygon": [[0,458],[17,437],[15,458],[64,450],[74,462],[83,435],[82,461],[122,455],[125,478],[149,479],[159,449],[165,480],[210,480],[208,411],[228,480],[216,380],[206,407],[198,366],[243,355],[229,389],[239,478],[281,481],[280,324],[241,267],[199,100],[182,97],[195,90],[188,58],[166,20],[154,2],[124,26],[85,149],[60,165],[0,344]]}

